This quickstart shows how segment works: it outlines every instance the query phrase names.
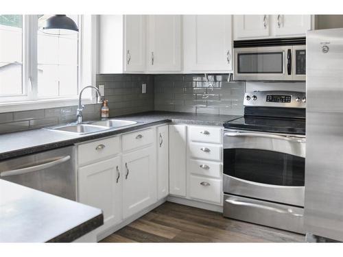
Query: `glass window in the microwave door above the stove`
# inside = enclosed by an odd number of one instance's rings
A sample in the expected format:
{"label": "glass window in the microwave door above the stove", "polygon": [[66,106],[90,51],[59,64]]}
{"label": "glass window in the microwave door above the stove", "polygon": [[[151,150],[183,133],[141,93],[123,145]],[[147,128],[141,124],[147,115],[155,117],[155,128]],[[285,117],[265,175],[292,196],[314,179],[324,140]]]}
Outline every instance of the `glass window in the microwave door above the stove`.
{"label": "glass window in the microwave door above the stove", "polygon": [[283,52],[237,53],[238,73],[283,73]]}

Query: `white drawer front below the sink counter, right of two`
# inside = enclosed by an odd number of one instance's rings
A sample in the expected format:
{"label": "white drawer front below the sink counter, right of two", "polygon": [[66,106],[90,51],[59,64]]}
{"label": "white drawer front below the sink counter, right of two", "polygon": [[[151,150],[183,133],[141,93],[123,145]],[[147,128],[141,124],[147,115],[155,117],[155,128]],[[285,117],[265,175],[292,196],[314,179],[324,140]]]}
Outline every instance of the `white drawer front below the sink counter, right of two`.
{"label": "white drawer front below the sink counter, right of two", "polygon": [[152,129],[141,130],[123,135],[123,151],[128,151],[154,142]]}

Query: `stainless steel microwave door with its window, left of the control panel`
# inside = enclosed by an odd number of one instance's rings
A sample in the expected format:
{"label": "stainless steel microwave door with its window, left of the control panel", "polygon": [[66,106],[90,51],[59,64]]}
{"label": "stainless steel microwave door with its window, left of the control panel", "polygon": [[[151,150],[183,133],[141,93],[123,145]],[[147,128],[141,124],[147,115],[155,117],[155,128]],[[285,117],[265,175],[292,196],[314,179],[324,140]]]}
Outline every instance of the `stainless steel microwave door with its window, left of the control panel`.
{"label": "stainless steel microwave door with its window, left of the control panel", "polygon": [[292,80],[292,46],[234,49],[235,80]]}

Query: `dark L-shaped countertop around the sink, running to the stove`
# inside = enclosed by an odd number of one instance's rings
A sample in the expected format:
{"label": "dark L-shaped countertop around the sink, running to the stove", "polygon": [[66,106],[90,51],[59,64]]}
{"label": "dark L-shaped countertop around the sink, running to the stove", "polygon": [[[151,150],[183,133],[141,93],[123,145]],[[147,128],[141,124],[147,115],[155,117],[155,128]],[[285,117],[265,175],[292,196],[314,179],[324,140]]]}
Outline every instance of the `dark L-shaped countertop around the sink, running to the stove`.
{"label": "dark L-shaped countertop around the sink, running to the stove", "polygon": [[224,121],[237,119],[235,115],[193,114],[190,112],[141,112],[130,114],[115,119],[137,121],[135,125],[119,129],[104,130],[92,134],[71,134],[52,130],[27,130],[0,135],[0,160],[33,154],[38,151],[56,149],[67,145],[73,145],[86,140],[93,140],[105,136],[112,136],[124,132],[139,130],[144,127],[163,123],[185,123],[191,125],[215,125],[222,126]]}

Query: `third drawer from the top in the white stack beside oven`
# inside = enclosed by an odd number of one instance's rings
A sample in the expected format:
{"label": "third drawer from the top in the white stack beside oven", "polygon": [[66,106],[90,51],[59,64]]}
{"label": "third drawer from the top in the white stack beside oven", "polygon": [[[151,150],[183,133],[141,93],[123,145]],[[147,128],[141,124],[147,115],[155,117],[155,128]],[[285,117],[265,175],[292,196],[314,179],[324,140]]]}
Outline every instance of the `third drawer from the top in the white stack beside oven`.
{"label": "third drawer from the top in the white stack beside oven", "polygon": [[189,169],[191,173],[198,175],[206,175],[214,178],[220,178],[222,171],[220,162],[209,162],[205,160],[190,160]]}

